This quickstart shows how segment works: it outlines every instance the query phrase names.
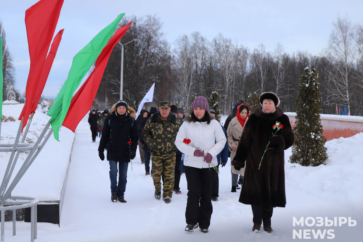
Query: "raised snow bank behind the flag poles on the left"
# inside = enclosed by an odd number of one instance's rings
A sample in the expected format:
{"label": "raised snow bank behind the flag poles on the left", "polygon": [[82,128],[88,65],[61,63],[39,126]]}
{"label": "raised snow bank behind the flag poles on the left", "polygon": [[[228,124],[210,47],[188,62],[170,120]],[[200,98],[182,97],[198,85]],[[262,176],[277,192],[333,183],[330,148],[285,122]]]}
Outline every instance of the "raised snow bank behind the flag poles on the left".
{"label": "raised snow bank behind the flag poles on the left", "polygon": [[[24,103],[3,105],[3,115],[7,117],[12,116],[16,121],[3,122],[1,124],[1,144],[14,143],[20,123],[17,119],[19,118],[23,106]],[[50,117],[48,115],[42,113],[40,109],[37,109],[30,125],[28,135],[26,136],[25,143],[36,142],[49,119]],[[20,136],[20,140],[21,138],[22,136]],[[40,201],[60,200],[73,139],[74,133],[65,127],[61,127],[60,129],[61,142],[55,140],[52,135],[39,153],[37,159],[34,160],[28,171],[19,181],[19,184],[13,190],[12,195],[36,197]],[[3,180],[10,155],[11,152],[0,152],[1,181]],[[15,174],[21,165],[23,165],[26,156],[27,155],[24,152],[20,153],[12,179],[15,177]]]}

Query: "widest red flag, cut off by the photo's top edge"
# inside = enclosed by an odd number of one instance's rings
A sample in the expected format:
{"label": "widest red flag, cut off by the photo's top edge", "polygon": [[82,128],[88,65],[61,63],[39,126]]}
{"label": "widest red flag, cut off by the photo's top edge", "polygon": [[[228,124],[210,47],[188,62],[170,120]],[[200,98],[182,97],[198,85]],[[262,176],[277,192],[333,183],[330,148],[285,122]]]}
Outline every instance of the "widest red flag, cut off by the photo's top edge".
{"label": "widest red flag, cut off by the photo's top edge", "polygon": [[40,0],[25,11],[30,69],[25,90],[26,102],[19,117],[19,120],[24,118],[21,131],[23,131],[28,122],[33,103],[39,101],[39,99],[35,100],[37,89],[40,88],[39,80],[50,42],[52,41],[54,30],[57,26],[63,1],[64,0]]}

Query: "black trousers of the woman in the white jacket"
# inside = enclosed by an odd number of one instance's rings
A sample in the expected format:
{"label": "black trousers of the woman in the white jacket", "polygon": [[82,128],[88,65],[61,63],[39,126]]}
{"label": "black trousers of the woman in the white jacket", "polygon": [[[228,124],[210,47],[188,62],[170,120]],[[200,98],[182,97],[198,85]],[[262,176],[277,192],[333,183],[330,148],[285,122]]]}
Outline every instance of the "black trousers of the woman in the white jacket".
{"label": "black trousers of the woman in the white jacket", "polygon": [[185,166],[188,184],[185,221],[187,224],[199,223],[201,229],[208,229],[211,224],[213,172],[214,169]]}

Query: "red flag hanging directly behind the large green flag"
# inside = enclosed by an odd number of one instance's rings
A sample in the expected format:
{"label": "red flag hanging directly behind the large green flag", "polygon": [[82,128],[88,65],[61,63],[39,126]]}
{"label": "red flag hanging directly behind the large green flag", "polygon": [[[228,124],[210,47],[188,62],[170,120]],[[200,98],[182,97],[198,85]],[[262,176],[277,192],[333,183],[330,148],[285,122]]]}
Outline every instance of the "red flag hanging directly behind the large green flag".
{"label": "red flag hanging directly behind the large green flag", "polygon": [[83,83],[82,87],[77,91],[76,95],[72,98],[68,113],[62,124],[64,127],[67,127],[75,132],[78,123],[90,110],[111,52],[117,42],[121,40],[123,35],[126,33],[127,29],[129,29],[130,25],[131,22],[127,26],[119,28],[109,40],[105,48],[103,48],[101,54],[97,58],[94,70],[89,75],[85,83]]}

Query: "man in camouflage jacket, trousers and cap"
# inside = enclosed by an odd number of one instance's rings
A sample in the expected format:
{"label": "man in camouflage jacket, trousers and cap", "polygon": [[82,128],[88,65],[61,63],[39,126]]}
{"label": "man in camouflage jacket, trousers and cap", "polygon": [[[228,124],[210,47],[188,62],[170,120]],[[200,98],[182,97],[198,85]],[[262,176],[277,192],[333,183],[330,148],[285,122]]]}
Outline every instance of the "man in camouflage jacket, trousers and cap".
{"label": "man in camouflage jacket, trousers and cap", "polygon": [[159,111],[150,117],[142,129],[142,137],[151,151],[151,176],[154,180],[155,198],[161,197],[160,177],[164,174],[163,200],[170,203],[174,189],[174,144],[181,122],[170,112],[169,102],[160,102]]}

